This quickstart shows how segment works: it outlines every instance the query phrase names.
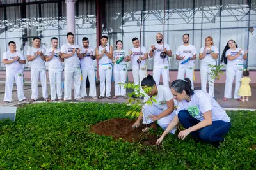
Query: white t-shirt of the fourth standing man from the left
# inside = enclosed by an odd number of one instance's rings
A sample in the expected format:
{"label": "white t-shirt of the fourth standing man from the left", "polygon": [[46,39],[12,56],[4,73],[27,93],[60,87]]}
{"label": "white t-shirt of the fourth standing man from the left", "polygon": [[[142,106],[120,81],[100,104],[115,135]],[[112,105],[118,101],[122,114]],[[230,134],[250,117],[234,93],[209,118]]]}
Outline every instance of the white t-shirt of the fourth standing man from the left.
{"label": "white t-shirt of the fourth standing man from the left", "polygon": [[[74,48],[76,48],[76,51],[77,51],[80,48],[80,46],[75,45],[75,44],[70,45],[70,43],[67,43],[67,44],[64,44],[64,45],[61,46],[60,52],[69,54],[69,53],[73,52]],[[78,58],[76,52],[71,57],[65,58],[64,63],[65,63],[65,66],[74,66],[74,67],[76,67],[77,65],[79,65],[80,61],[79,61],[79,58]]]}

